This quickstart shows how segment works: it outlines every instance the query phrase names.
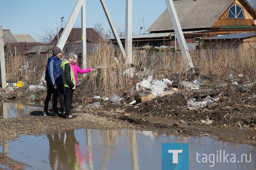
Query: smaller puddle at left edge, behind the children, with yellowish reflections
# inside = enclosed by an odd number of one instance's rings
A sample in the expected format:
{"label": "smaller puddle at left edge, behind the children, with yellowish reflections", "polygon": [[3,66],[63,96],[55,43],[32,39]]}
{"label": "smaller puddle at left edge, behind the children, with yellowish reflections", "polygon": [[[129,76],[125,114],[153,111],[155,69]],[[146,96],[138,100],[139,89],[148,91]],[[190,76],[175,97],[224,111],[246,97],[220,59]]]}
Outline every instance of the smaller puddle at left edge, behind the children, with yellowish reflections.
{"label": "smaller puddle at left edge, behind the children, with yellowish reflections", "polygon": [[36,108],[38,107],[26,104],[0,102],[0,119],[20,118],[20,116],[25,115],[28,111]]}

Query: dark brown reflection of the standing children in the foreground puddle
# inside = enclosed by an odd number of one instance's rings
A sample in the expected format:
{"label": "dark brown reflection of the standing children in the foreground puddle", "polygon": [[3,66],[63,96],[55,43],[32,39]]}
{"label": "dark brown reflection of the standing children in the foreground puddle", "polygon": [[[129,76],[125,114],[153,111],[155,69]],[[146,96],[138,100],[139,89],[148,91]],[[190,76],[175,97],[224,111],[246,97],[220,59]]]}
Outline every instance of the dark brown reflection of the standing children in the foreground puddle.
{"label": "dark brown reflection of the standing children in the foreground puddle", "polygon": [[[78,163],[75,155],[75,145],[79,142],[75,139],[74,130],[66,133],[47,135],[50,144],[49,161],[51,169],[76,169]],[[76,151],[77,152],[77,151]]]}

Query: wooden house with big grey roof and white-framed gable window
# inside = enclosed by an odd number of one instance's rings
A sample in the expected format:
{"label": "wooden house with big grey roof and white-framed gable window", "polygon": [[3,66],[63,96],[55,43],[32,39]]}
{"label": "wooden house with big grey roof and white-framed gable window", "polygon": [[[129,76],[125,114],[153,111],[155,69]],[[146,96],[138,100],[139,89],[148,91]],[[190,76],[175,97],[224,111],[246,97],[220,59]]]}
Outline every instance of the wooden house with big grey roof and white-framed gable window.
{"label": "wooden house with big grey roof and white-framed gable window", "polygon": [[[173,0],[173,3],[186,43],[196,43],[202,38],[224,34],[255,32],[256,12],[246,0]],[[147,37],[149,45],[175,45],[174,36],[168,39],[156,35],[175,34],[168,9],[147,31],[158,39],[155,44],[154,38],[149,40]],[[143,42],[145,38],[141,36],[136,39]]]}

